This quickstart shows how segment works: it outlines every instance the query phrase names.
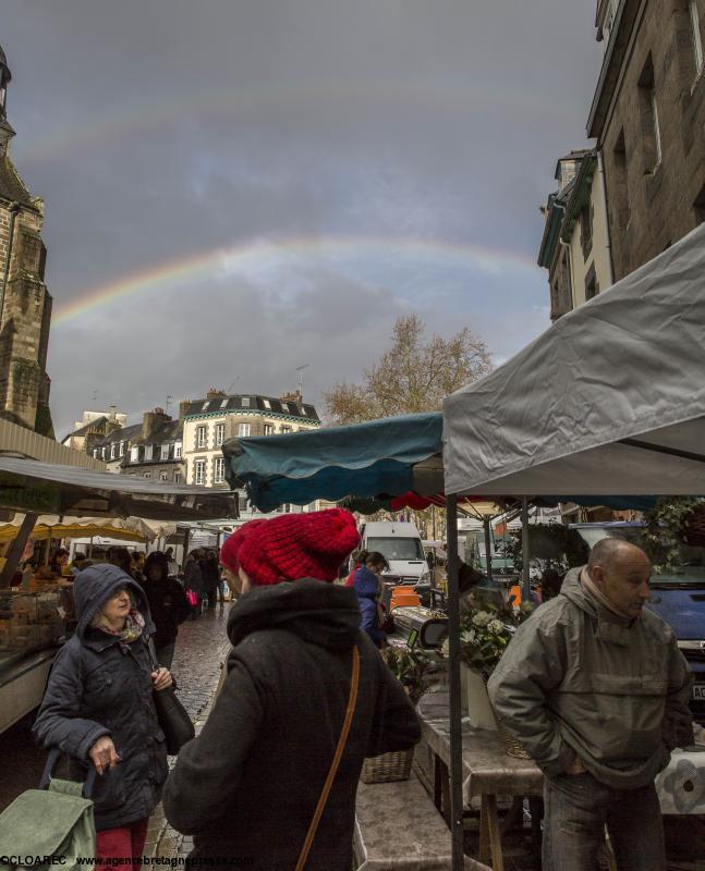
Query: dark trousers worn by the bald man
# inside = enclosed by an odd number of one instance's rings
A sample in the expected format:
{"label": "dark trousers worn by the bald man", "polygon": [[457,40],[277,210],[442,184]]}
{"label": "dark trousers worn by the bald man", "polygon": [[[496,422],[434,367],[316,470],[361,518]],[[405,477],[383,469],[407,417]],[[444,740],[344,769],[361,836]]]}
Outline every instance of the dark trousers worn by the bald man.
{"label": "dark trousers worn by the bald man", "polygon": [[544,782],[544,871],[595,871],[605,825],[619,871],[665,871],[664,824],[654,784],[612,789],[592,774]]}

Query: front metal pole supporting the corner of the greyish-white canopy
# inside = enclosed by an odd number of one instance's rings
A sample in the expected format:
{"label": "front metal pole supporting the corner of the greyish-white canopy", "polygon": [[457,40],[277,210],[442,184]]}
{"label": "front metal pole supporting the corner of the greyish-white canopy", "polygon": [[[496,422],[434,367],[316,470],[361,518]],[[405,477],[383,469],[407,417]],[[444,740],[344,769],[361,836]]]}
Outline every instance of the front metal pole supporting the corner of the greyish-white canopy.
{"label": "front metal pole supporting the corner of the greyish-white canopy", "polygon": [[458,591],[458,498],[447,499],[448,638],[450,658],[450,818],[452,871],[463,871],[463,737],[460,710],[460,599]]}

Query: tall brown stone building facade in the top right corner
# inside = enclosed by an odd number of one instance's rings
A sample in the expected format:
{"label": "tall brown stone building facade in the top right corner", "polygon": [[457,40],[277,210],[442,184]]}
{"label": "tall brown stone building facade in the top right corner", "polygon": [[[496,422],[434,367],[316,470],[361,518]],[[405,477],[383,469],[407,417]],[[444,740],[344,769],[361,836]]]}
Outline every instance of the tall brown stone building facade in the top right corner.
{"label": "tall brown stone building facade in the top right corner", "polygon": [[705,0],[599,0],[587,123],[607,182],[615,280],[705,220]]}

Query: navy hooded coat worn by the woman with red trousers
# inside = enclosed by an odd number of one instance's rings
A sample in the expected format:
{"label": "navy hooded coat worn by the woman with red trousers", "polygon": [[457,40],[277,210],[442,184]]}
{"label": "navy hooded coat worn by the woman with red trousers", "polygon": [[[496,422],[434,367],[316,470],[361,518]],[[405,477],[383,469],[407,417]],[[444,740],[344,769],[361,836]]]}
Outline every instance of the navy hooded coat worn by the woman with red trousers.
{"label": "navy hooded coat worn by the woman with red trousers", "polygon": [[[124,645],[90,626],[120,587],[127,587],[145,617],[137,640]],[[167,777],[165,735],[153,701],[147,638],[154,633],[139,585],[114,565],[94,565],[74,584],[76,633],[59,651],[33,732],[44,747],[60,747],[74,777],[85,780],[88,751],[109,735],[121,761],[96,778],[98,831],[149,817]]]}

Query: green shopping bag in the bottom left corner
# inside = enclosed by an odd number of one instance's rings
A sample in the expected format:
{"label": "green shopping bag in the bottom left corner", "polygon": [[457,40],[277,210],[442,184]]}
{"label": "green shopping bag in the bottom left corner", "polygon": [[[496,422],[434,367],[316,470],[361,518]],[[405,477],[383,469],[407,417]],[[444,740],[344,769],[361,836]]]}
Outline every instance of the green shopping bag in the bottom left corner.
{"label": "green shopping bag in the bottom left corner", "polygon": [[0,871],[85,868],[77,858],[96,855],[96,826],[90,794],[96,770],[85,784],[61,781],[51,773],[61,756],[49,753],[39,789],[27,789],[0,814]]}

